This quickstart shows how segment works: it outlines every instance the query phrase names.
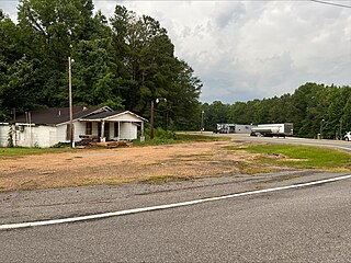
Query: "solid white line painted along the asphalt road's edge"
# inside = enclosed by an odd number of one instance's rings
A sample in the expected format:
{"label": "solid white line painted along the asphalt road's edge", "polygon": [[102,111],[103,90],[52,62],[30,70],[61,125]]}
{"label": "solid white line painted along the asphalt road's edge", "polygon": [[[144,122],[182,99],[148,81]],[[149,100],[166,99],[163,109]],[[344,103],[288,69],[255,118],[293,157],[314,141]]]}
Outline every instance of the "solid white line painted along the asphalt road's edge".
{"label": "solid white line painted along the asphalt road's edge", "polygon": [[134,208],[134,209],[127,209],[127,210],[111,211],[111,213],[103,213],[103,214],[80,216],[80,217],[71,217],[71,218],[63,218],[63,219],[44,220],[44,221],[31,221],[31,222],[0,225],[0,230],[30,228],[30,227],[38,227],[38,226],[49,226],[49,225],[58,225],[58,224],[67,224],[67,222],[76,222],[76,221],[86,221],[86,220],[94,220],[94,219],[101,219],[101,218],[107,218],[107,217],[132,215],[132,214],[144,213],[144,211],[162,210],[162,209],[169,209],[169,208],[181,207],[181,206],[196,205],[196,204],[205,203],[205,202],[228,199],[228,198],[246,196],[246,195],[254,195],[254,194],[262,194],[262,193],[275,192],[275,191],[281,191],[281,190],[298,188],[298,187],[305,187],[305,186],[310,186],[310,185],[318,185],[318,184],[330,183],[330,182],[336,182],[336,181],[346,180],[346,179],[351,179],[351,174],[342,175],[342,176],[338,176],[338,178],[332,178],[332,179],[325,179],[325,180],[320,180],[320,181],[314,181],[314,182],[309,182],[309,183],[301,183],[301,184],[294,184],[294,185],[274,187],[274,188],[267,188],[267,190],[257,190],[257,191],[251,191],[251,192],[244,192],[244,193],[224,195],[224,196],[218,196],[218,197],[208,197],[208,198],[203,198],[203,199],[194,199],[194,201],[174,203],[174,204],[169,204],[169,205],[150,206],[150,207]]}

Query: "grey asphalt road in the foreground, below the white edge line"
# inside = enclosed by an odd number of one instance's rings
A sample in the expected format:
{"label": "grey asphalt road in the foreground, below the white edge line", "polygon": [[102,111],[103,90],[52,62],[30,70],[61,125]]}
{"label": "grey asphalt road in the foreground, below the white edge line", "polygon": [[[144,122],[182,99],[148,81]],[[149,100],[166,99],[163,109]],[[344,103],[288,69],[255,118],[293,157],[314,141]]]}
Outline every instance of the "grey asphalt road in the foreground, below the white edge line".
{"label": "grey asphalt road in the foreground, below the white edge line", "polygon": [[351,180],[0,232],[0,262],[350,262]]}

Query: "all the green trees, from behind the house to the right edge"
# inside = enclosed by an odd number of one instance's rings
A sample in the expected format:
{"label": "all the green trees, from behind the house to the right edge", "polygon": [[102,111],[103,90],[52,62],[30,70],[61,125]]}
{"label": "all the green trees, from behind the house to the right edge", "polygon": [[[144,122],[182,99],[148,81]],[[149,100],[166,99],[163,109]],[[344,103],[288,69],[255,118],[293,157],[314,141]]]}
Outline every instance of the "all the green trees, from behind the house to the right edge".
{"label": "all the green trees, from behind the house to the right edge", "polygon": [[67,106],[71,57],[75,104],[149,118],[151,100],[166,99],[155,114],[156,126],[165,129],[293,123],[296,136],[312,138],[351,129],[350,87],[305,83],[280,98],[200,103],[201,80],[174,56],[158,21],[123,5],[109,19],[93,9],[92,0],[20,0],[18,23],[0,10],[0,122],[14,111]]}

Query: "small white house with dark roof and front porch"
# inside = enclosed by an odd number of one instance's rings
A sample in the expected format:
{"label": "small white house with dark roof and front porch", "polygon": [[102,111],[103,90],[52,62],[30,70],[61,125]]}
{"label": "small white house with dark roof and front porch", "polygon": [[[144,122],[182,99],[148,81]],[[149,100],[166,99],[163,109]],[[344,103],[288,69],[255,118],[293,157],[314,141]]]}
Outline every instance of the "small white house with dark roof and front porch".
{"label": "small white house with dark roof and front porch", "polygon": [[[145,118],[129,112],[103,107],[73,107],[73,141],[83,138],[134,140],[140,130],[144,137]],[[45,108],[16,116],[12,123],[0,123],[0,147],[8,146],[10,135],[14,146],[50,147],[70,142],[69,107]]]}

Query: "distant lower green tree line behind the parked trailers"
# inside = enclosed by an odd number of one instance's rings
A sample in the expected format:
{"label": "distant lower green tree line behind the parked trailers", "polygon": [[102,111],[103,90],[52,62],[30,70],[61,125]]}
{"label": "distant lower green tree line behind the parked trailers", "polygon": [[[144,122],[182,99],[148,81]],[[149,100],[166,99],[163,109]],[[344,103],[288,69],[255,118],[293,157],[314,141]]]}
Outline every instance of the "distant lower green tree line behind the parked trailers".
{"label": "distant lower green tree line behind the parked trailers", "polygon": [[348,85],[305,83],[293,94],[280,98],[224,104],[215,101],[201,106],[205,129],[216,123],[270,124],[293,123],[294,135],[340,138],[351,130],[351,89]]}

